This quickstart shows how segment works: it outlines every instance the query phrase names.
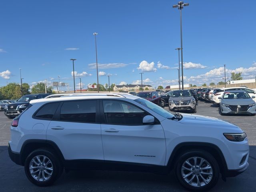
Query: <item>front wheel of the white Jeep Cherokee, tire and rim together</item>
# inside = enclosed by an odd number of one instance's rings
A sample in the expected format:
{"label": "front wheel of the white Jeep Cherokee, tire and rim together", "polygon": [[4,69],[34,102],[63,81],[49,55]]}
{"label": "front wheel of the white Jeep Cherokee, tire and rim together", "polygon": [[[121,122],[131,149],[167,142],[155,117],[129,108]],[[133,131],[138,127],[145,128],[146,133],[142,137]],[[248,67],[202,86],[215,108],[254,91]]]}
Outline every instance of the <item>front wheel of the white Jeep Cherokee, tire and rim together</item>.
{"label": "front wheel of the white Jeep Cherokee, tire and rim together", "polygon": [[176,163],[176,176],[179,182],[191,191],[205,191],[214,187],[219,174],[217,161],[203,150],[185,152]]}

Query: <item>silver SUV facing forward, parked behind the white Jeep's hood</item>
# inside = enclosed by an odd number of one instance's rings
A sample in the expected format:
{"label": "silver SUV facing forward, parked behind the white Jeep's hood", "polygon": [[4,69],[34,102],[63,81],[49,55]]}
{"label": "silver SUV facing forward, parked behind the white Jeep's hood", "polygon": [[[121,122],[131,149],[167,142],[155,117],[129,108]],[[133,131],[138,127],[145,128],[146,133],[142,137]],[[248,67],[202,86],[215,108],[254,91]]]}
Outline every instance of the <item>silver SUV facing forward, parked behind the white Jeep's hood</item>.
{"label": "silver SUV facing forward, parked behind the white Jeep's hood", "polygon": [[196,113],[196,100],[189,90],[174,90],[169,98],[169,110]]}

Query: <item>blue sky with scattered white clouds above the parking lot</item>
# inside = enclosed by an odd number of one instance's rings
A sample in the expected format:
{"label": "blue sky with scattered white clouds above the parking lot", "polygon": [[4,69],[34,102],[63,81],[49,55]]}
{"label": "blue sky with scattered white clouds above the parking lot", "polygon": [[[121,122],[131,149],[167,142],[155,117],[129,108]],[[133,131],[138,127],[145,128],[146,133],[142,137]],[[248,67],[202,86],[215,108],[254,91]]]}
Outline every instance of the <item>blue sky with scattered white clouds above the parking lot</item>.
{"label": "blue sky with scattered white clouds above the parking lot", "polygon": [[[99,83],[153,87],[177,84],[180,47],[176,0],[10,0],[1,4],[0,86],[45,79],[70,84],[72,62],[83,86]],[[184,83],[219,82],[231,72],[256,76],[256,1],[187,0],[182,10]],[[248,6],[249,5],[249,6]],[[73,48],[73,49],[70,49]],[[152,63],[153,62],[153,63]],[[76,84],[79,80],[76,79]],[[77,85],[79,86],[79,85]]]}

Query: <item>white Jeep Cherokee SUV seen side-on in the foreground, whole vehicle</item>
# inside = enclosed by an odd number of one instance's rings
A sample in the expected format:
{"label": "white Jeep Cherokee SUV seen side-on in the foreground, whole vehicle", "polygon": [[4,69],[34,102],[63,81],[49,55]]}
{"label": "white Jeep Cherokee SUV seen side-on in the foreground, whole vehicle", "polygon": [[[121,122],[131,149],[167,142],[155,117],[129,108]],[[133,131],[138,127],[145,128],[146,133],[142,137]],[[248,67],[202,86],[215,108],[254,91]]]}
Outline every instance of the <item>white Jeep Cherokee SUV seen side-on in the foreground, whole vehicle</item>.
{"label": "white Jeep Cherokee SUV seen side-on in the foreground, whole vehicle", "polygon": [[88,94],[30,101],[11,126],[9,156],[38,186],[74,168],[168,174],[188,190],[212,188],[248,167],[238,126],[168,112],[129,94]]}

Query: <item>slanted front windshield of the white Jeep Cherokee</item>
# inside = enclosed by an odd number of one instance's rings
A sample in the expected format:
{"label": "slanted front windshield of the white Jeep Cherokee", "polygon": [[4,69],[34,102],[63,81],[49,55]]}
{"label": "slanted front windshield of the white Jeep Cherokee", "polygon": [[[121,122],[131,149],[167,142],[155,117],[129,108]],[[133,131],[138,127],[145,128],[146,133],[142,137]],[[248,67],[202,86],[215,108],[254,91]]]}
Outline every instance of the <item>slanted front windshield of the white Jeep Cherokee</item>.
{"label": "slanted front windshield of the white Jeep Cherokee", "polygon": [[134,100],[136,101],[137,103],[139,104],[142,104],[143,106],[145,106],[146,108],[156,112],[157,114],[159,114],[160,116],[164,117],[164,118],[173,118],[174,115],[171,113],[171,112],[168,112],[166,110],[164,110],[162,107],[146,100],[146,99],[142,99],[142,98],[139,98],[139,99],[136,99]]}

